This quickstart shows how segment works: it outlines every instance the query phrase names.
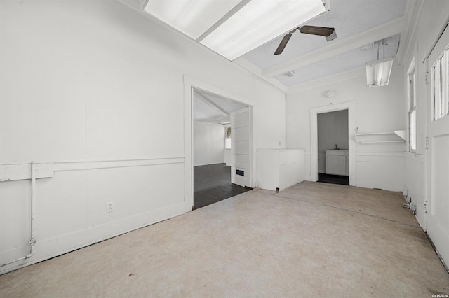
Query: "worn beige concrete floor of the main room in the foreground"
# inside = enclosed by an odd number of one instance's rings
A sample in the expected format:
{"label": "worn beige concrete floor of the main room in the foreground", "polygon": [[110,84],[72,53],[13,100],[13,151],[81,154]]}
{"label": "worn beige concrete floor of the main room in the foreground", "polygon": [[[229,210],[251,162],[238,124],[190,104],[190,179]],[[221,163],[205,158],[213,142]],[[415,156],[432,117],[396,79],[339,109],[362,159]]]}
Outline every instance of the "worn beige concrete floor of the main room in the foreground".
{"label": "worn beige concrete floor of the main room in the foreground", "polygon": [[396,192],[252,190],[0,276],[0,297],[431,297],[449,274]]}

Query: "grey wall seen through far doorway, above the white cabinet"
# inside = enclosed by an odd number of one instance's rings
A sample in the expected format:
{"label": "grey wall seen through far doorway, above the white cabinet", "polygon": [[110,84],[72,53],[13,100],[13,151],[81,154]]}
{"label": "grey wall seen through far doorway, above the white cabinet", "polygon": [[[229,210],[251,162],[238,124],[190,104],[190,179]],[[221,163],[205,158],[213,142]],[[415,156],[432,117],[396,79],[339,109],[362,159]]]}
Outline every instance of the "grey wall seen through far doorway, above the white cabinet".
{"label": "grey wall seen through far doorway, above the white cabinet", "polygon": [[326,173],[326,150],[348,150],[348,111],[318,114],[318,172]]}

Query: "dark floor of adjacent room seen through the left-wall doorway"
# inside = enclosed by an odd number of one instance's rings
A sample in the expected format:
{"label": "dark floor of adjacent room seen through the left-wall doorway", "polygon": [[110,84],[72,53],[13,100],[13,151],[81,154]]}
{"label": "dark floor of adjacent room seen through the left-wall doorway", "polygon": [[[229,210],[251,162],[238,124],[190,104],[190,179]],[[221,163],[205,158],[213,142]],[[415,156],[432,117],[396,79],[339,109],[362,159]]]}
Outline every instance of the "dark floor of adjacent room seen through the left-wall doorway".
{"label": "dark floor of adjacent room seen through the left-wall doorway", "polygon": [[234,197],[248,190],[250,188],[231,183],[231,166],[224,163],[194,166],[194,209]]}

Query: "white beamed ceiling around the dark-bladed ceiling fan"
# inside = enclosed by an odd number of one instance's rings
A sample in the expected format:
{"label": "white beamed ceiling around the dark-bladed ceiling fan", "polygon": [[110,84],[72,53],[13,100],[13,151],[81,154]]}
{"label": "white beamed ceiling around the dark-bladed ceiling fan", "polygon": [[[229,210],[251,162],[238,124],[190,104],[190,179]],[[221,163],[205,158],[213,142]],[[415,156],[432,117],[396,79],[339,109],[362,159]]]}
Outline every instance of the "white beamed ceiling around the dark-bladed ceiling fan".
{"label": "white beamed ceiling around the dark-bladed ceiling fan", "polygon": [[[145,0],[119,1],[144,13],[142,8]],[[410,17],[417,0],[329,1],[330,11],[304,24],[335,27],[338,36],[335,40],[327,42],[322,36],[301,34],[296,31],[283,53],[274,55],[285,35],[281,34],[232,63],[245,67],[286,92],[312,80],[364,68],[366,62],[377,59],[375,42],[380,40],[386,41],[386,45],[380,50],[380,58],[396,57],[395,64],[401,63],[402,48],[406,43]],[[152,17],[147,13],[144,14]],[[295,72],[295,76],[283,75],[291,70]],[[208,94],[205,96],[208,97]],[[198,104],[200,105],[204,106]],[[201,113],[198,111],[198,119],[207,118]],[[217,118],[219,115],[216,114],[214,119]]]}

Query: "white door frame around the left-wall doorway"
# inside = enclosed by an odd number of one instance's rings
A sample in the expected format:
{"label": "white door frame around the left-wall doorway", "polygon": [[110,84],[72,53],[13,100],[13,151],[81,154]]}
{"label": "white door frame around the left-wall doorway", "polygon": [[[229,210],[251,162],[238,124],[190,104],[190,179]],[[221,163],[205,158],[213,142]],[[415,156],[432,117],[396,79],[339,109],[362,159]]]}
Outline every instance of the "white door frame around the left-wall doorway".
{"label": "white door frame around the left-wall doorway", "polygon": [[[192,206],[194,206],[194,150],[193,150],[193,125],[194,125],[194,117],[193,117],[193,106],[194,106],[194,88],[197,90],[203,90],[206,92],[214,93],[220,95],[222,97],[226,97],[228,99],[232,99],[234,101],[239,101],[242,104],[247,104],[248,106],[252,106],[249,104],[250,101],[244,97],[240,97],[232,92],[228,92],[227,90],[222,90],[219,87],[209,85],[207,83],[203,83],[200,80],[196,80],[189,76],[184,76],[184,202],[185,202],[185,212],[192,211]],[[252,111],[252,110],[251,110]],[[253,117],[251,117],[251,121],[253,121]],[[253,122],[251,123],[251,127],[253,127]],[[252,148],[254,148],[254,138],[253,138],[253,129],[250,130],[250,136],[252,140]],[[254,164],[253,150],[250,151],[250,160],[251,164]],[[250,184],[251,187],[255,186],[254,176],[254,166],[250,168]]]}

